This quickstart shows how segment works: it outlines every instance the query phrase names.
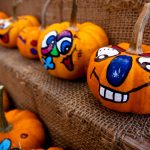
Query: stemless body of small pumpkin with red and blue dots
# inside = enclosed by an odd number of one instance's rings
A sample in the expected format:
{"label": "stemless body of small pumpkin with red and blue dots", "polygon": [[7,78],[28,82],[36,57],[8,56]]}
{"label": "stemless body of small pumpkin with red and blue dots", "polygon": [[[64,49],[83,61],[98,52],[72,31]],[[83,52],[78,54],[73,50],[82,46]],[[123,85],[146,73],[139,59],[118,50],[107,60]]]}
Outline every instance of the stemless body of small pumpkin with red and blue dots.
{"label": "stemless body of small pumpkin with red and blue dots", "polygon": [[26,27],[18,35],[17,47],[20,53],[27,58],[39,58],[37,42],[40,36],[40,27]]}

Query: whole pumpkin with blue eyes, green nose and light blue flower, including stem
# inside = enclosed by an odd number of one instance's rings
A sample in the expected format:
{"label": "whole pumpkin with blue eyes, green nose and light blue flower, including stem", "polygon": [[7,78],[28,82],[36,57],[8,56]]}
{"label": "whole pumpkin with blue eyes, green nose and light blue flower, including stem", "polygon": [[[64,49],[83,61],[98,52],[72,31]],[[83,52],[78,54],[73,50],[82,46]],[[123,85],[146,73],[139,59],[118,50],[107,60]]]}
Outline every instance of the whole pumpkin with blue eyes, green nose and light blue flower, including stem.
{"label": "whole pumpkin with blue eyes, green nose and light blue flower, including stem", "polygon": [[47,27],[38,41],[38,53],[45,69],[63,79],[85,76],[91,54],[108,44],[101,27],[90,22],[76,23],[76,9],[73,0],[71,21]]}

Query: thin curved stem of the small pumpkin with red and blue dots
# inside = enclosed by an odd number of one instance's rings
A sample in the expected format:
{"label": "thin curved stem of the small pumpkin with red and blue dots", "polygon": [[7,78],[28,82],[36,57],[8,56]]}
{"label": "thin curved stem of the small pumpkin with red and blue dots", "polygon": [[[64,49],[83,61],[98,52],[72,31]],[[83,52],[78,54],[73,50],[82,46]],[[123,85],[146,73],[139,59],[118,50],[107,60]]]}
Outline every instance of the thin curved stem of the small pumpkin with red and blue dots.
{"label": "thin curved stem of the small pumpkin with red and blue dots", "polygon": [[51,0],[47,0],[43,6],[42,15],[41,15],[41,29],[44,29],[46,26],[46,11],[50,3],[51,3]]}

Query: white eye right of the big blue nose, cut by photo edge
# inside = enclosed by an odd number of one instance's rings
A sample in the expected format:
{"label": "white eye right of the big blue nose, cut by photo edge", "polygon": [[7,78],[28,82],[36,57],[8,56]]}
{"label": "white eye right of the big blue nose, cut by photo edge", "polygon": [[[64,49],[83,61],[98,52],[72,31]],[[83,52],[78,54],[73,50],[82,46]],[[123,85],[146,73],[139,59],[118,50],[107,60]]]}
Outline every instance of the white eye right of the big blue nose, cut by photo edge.
{"label": "white eye right of the big blue nose, cut by photo edge", "polygon": [[150,72],[150,57],[140,57],[137,62],[142,68]]}

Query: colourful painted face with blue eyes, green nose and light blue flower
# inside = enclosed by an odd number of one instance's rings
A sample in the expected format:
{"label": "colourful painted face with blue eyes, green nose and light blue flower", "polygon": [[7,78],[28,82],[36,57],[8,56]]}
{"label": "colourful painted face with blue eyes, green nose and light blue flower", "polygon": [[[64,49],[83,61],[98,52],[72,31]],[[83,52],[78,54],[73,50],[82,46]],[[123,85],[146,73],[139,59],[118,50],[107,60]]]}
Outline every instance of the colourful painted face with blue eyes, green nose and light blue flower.
{"label": "colourful painted face with blue eyes, green nose and light blue flower", "polygon": [[73,35],[68,30],[64,30],[60,34],[58,34],[57,31],[51,31],[45,35],[41,49],[45,68],[47,70],[55,69],[53,58],[61,57],[60,63],[64,64],[69,71],[72,71],[74,69],[72,62],[73,52],[71,52],[71,54],[69,53],[72,49],[72,45]]}

